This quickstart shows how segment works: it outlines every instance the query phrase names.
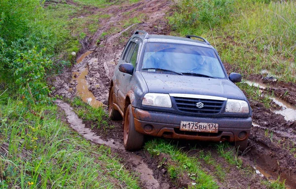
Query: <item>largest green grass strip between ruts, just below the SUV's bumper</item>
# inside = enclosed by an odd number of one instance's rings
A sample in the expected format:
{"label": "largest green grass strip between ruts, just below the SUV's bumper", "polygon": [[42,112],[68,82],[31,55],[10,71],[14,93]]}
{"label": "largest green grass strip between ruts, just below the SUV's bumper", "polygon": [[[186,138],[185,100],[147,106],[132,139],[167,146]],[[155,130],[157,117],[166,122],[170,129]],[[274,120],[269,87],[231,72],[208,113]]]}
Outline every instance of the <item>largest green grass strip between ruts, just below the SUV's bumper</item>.
{"label": "largest green grass strip between ruts, just below the SUV's bumper", "polygon": [[173,163],[168,163],[167,170],[172,179],[182,177],[187,174],[192,183],[196,185],[189,185],[188,189],[218,189],[218,185],[214,181],[214,178],[202,170],[200,162],[197,158],[188,157],[178,147],[173,146],[162,139],[154,139],[145,144],[145,149],[153,155],[159,155],[160,153],[168,154]]}

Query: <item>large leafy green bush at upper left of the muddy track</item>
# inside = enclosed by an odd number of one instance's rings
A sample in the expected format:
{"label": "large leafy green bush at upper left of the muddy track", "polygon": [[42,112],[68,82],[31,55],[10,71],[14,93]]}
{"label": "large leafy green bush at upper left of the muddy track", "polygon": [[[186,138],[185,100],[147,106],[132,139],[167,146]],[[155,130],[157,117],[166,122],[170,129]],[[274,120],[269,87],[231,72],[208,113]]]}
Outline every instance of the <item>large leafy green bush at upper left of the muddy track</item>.
{"label": "large leafy green bush at upper left of the muddy track", "polygon": [[48,102],[47,75],[69,65],[51,60],[68,48],[66,40],[73,42],[63,27],[47,16],[39,0],[1,0],[0,82],[31,103]]}

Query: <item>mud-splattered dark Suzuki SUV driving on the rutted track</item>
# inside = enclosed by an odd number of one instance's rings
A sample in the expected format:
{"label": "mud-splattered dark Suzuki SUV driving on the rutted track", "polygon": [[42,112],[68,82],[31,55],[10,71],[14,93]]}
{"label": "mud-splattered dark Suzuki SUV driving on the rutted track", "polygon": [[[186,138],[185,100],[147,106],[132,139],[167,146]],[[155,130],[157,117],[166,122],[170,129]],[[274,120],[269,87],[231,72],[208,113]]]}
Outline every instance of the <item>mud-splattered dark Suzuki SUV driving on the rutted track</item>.
{"label": "mud-splattered dark Suzuki SUV driving on the rutted track", "polygon": [[136,31],[114,70],[109,116],[124,118],[126,150],[140,149],[145,135],[229,141],[244,150],[252,109],[234,84],[240,81],[240,74],[227,76],[204,38]]}

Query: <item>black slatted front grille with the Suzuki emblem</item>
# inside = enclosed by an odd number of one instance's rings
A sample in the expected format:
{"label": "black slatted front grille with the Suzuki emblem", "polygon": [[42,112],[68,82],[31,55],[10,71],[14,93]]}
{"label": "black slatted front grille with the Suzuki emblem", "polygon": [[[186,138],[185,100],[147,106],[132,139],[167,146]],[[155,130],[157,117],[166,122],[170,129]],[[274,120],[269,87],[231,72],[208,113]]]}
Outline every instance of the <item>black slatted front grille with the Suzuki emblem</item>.
{"label": "black slatted front grille with the Suzuki emblem", "polygon": [[221,112],[223,104],[225,102],[222,100],[209,100],[198,98],[173,98],[175,99],[178,110],[185,113],[217,114]]}

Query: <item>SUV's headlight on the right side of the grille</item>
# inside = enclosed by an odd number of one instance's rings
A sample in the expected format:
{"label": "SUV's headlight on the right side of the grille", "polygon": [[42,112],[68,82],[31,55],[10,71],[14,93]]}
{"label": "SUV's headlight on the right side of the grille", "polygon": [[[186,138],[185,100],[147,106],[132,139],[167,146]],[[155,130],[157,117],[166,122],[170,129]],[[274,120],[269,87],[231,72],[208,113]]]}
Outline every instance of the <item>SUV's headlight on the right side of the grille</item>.
{"label": "SUV's headlight on the right side of the grille", "polygon": [[249,106],[246,101],[228,99],[226,103],[225,112],[249,113]]}

